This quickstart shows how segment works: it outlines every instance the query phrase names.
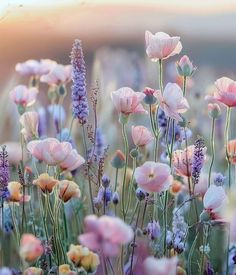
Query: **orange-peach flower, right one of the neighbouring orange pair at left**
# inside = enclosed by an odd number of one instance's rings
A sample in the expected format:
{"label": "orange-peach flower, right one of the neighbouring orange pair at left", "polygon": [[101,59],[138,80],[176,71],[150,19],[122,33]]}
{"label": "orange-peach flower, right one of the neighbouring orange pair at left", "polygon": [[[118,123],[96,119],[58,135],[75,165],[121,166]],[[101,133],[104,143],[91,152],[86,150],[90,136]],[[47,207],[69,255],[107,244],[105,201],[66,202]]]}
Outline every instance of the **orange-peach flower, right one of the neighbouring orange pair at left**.
{"label": "orange-peach flower, right one of the neighbouring orange pair at left", "polygon": [[59,181],[59,198],[67,202],[71,198],[80,198],[81,192],[79,186],[70,180]]}

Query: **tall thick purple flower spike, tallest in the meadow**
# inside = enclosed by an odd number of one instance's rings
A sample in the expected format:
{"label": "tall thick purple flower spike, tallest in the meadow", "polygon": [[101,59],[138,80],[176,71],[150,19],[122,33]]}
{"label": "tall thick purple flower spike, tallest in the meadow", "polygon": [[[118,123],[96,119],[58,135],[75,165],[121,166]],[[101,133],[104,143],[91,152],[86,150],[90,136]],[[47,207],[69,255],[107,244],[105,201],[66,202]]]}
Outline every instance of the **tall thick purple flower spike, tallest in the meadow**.
{"label": "tall thick purple flower spike, tallest in the meadow", "polygon": [[86,69],[81,41],[76,39],[71,52],[72,65],[72,112],[82,125],[88,120],[89,108],[86,91]]}

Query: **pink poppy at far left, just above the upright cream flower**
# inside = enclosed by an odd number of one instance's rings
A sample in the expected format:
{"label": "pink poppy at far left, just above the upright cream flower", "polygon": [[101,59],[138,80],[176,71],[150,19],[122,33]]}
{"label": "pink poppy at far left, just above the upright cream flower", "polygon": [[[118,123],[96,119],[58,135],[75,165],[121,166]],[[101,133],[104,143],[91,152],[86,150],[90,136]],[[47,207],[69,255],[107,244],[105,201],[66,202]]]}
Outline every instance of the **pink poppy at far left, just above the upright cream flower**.
{"label": "pink poppy at far left, just above the upright cream flower", "polygon": [[18,85],[10,91],[11,100],[24,108],[33,105],[36,101],[38,89],[35,87],[27,88],[25,85]]}

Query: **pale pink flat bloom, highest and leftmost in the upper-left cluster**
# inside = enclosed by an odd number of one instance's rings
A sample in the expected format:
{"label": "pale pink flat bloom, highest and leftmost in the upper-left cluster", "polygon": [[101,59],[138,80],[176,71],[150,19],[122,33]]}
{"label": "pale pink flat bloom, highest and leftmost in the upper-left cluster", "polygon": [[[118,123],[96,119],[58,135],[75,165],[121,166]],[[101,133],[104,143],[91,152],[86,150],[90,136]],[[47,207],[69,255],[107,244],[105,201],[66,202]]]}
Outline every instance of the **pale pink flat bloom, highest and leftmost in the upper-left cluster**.
{"label": "pale pink flat bloom, highest and leftmost in the upper-left cluster", "polygon": [[50,59],[29,59],[23,63],[17,63],[15,70],[24,76],[41,76],[47,74],[55,66],[56,62]]}

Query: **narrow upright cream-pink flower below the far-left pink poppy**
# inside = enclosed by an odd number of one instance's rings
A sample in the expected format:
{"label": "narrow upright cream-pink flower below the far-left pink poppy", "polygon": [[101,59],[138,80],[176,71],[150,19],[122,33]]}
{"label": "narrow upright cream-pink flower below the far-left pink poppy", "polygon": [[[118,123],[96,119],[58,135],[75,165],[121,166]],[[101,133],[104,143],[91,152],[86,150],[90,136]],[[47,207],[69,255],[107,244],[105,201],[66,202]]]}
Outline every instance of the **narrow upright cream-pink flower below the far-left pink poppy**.
{"label": "narrow upright cream-pink flower below the far-left pink poppy", "polygon": [[38,137],[39,115],[37,112],[25,112],[20,117],[21,133],[26,141]]}

